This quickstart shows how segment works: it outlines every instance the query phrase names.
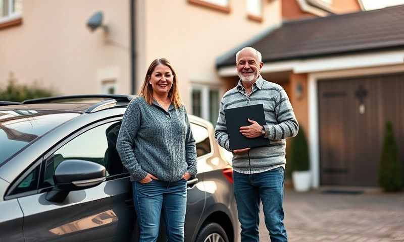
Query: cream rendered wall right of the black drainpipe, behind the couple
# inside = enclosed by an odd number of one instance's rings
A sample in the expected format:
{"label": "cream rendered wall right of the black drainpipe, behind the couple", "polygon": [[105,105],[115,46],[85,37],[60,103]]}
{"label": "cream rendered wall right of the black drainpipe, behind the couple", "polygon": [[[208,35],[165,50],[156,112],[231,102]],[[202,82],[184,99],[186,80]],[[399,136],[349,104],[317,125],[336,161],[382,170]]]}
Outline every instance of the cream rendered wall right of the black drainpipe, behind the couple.
{"label": "cream rendered wall right of the black drainpipe, behind the couple", "polygon": [[181,97],[188,110],[191,83],[219,87],[224,84],[215,68],[216,57],[281,21],[278,0],[263,1],[262,23],[247,19],[245,0],[230,0],[230,14],[192,5],[187,0],[139,2],[145,11],[145,32],[139,36],[144,38],[143,49],[139,49],[144,66],[138,69],[138,83],[143,81],[153,59],[168,58],[176,69]]}

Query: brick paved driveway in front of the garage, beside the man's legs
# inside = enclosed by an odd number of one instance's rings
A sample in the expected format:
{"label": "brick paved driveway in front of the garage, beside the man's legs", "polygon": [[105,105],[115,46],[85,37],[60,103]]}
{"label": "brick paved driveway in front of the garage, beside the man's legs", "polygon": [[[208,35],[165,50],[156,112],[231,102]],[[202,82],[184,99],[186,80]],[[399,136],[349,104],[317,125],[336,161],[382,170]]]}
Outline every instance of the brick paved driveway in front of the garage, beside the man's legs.
{"label": "brick paved driveway in front of the garage, beside the man's legs", "polygon": [[[295,193],[284,198],[289,241],[404,241],[404,193]],[[270,241],[260,215],[260,241]]]}

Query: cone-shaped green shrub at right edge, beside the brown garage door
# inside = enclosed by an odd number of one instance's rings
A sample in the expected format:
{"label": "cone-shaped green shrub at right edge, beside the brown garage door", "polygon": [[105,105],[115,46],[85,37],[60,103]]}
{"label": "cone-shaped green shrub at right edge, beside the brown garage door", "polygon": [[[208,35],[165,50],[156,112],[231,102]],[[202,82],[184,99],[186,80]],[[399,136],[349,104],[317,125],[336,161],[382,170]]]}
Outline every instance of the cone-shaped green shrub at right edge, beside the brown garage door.
{"label": "cone-shaped green shrub at right edge, beside the brown garage door", "polygon": [[402,188],[401,166],[398,160],[398,147],[395,142],[393,125],[386,123],[383,148],[379,167],[379,185],[386,192],[399,191]]}

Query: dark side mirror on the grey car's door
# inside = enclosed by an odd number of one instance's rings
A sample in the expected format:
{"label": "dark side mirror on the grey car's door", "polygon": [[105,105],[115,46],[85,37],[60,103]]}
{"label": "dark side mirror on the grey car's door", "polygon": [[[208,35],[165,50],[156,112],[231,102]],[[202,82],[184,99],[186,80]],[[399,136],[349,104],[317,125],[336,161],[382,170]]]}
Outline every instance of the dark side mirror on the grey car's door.
{"label": "dark side mirror on the grey car's door", "polygon": [[86,160],[64,160],[55,170],[55,188],[46,194],[46,200],[63,202],[70,191],[95,187],[105,179],[103,165]]}

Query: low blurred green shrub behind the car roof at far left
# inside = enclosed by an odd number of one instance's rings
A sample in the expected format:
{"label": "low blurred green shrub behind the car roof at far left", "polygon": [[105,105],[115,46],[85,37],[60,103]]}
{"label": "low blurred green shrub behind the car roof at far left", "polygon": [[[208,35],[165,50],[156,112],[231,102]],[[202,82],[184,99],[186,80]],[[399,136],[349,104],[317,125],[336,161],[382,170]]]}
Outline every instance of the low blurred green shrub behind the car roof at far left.
{"label": "low blurred green shrub behind the car roof at far left", "polygon": [[9,80],[6,88],[0,87],[0,101],[15,101],[21,102],[27,99],[51,97],[55,93],[51,89],[35,87],[35,85],[21,85],[14,80]]}

